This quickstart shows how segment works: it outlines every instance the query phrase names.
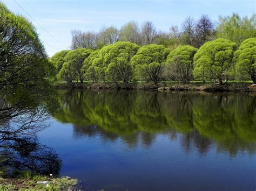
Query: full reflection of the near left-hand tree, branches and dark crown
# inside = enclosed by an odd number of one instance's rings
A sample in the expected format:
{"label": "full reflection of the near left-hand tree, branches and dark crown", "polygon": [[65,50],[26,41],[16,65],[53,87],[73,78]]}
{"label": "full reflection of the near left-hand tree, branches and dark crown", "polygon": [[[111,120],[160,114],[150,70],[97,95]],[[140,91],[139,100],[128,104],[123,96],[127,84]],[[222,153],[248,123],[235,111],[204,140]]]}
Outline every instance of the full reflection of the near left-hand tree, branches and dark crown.
{"label": "full reflection of the near left-hand tree, branches and dark crown", "polygon": [[0,165],[5,173],[25,170],[58,176],[61,160],[37,139],[37,133],[50,125],[48,112],[56,108],[49,92],[53,91],[28,87],[1,92]]}

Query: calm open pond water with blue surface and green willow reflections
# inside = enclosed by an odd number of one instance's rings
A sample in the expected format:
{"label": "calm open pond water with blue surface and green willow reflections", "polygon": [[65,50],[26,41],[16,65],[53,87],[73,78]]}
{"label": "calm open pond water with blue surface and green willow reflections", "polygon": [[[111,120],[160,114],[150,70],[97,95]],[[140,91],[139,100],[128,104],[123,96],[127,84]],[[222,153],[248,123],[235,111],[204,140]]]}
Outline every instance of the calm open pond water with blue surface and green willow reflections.
{"label": "calm open pond water with blue surface and green willow reflections", "polygon": [[59,91],[39,140],[85,190],[255,190],[256,95]]}

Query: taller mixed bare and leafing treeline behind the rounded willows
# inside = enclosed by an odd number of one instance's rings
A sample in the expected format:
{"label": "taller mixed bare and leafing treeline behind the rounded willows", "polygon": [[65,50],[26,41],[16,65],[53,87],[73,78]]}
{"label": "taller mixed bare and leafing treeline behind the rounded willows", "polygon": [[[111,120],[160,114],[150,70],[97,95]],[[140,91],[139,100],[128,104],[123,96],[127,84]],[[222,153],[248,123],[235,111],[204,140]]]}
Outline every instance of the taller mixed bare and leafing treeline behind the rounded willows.
{"label": "taller mixed bare and leafing treeline behind the rounded willows", "polygon": [[178,26],[171,26],[169,32],[157,30],[152,22],[139,25],[131,21],[120,29],[117,27],[103,27],[99,32],[73,30],[71,49],[90,48],[100,49],[117,41],[130,41],[139,46],[158,44],[176,48],[179,45],[191,45],[199,48],[206,41],[226,38],[240,45],[245,39],[255,37],[255,14],[250,18],[241,18],[237,13],[232,16],[219,17],[215,22],[207,15],[198,20],[187,17]]}

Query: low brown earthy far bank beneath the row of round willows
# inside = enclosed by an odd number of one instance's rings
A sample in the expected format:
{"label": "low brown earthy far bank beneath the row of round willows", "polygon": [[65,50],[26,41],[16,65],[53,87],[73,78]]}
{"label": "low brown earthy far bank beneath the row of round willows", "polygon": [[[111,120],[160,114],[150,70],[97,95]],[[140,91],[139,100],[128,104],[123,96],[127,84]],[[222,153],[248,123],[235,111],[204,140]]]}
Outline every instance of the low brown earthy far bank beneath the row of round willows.
{"label": "low brown earthy far bank beneath the row of round willows", "polygon": [[159,90],[159,91],[256,91],[256,84],[251,82],[237,83],[231,82],[220,86],[219,84],[194,82],[194,83],[170,83],[161,82],[158,84],[146,82],[134,83],[58,83],[55,85],[58,89],[132,89],[132,90]]}

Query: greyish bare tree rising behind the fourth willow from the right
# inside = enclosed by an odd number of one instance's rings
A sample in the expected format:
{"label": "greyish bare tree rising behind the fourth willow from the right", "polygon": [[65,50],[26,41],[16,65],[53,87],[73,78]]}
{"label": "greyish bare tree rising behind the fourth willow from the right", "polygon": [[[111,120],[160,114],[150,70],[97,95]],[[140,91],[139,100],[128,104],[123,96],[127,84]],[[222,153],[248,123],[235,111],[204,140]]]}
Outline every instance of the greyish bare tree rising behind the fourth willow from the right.
{"label": "greyish bare tree rising behind the fourth willow from the right", "polygon": [[142,44],[149,45],[154,43],[157,37],[156,27],[152,22],[145,22],[142,25]]}

